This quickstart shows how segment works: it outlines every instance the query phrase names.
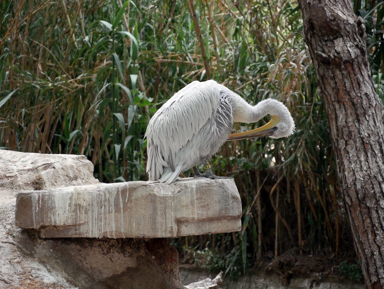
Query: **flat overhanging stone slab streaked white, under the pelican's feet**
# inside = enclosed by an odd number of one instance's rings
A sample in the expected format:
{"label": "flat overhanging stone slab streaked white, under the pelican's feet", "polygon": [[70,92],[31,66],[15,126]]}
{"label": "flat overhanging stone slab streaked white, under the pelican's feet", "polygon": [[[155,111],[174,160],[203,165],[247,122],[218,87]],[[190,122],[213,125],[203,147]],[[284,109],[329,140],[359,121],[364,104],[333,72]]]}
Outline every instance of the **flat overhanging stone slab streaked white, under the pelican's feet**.
{"label": "flat overhanging stone slab streaked white, under the pelican's feet", "polygon": [[174,238],[241,229],[230,179],[122,182],[20,192],[15,223],[43,238]]}

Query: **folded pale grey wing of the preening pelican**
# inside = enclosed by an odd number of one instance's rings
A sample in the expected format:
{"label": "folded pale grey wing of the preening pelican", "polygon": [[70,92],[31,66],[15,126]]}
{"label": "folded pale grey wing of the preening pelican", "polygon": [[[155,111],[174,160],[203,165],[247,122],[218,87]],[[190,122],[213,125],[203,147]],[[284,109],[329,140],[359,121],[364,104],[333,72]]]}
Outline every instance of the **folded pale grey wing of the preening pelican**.
{"label": "folded pale grey wing of the preening pelican", "polygon": [[[194,81],[174,94],[149,121],[147,172],[158,180],[163,167],[181,170],[177,152],[192,139],[217,110],[220,87],[214,80]],[[179,171],[180,172],[180,171]]]}

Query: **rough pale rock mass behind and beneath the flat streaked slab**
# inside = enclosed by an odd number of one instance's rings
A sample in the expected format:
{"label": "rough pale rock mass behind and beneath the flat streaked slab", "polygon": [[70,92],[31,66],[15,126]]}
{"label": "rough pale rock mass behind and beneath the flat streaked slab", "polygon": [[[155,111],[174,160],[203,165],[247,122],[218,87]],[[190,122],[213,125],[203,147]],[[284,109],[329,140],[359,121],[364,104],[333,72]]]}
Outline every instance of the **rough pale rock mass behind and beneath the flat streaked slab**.
{"label": "rough pale rock mass behind and beneath the flat streaked slab", "polygon": [[98,184],[92,172],[84,156],[0,150],[0,288],[184,288],[166,239],[42,239],[15,226],[17,192]]}

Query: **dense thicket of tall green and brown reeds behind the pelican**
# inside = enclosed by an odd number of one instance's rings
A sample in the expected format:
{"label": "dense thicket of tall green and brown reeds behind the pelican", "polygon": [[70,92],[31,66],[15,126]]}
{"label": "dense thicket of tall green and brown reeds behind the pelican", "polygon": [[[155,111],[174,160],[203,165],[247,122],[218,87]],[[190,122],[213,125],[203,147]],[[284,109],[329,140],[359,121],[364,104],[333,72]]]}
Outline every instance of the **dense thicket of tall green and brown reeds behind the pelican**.
{"label": "dense thicket of tall green and brown reeds behind the pelican", "polygon": [[[0,146],[85,154],[102,182],[146,180],[153,113],[185,84],[215,79],[253,104],[281,100],[296,133],[226,143],[212,166],[235,177],[243,229],[179,238],[179,248],[229,254],[226,267],[238,273],[293,248],[329,258],[353,250],[300,9],[289,0],[239,3],[3,1]],[[369,16],[377,9],[356,5],[367,26],[379,25]],[[381,36],[369,35],[382,96]]]}

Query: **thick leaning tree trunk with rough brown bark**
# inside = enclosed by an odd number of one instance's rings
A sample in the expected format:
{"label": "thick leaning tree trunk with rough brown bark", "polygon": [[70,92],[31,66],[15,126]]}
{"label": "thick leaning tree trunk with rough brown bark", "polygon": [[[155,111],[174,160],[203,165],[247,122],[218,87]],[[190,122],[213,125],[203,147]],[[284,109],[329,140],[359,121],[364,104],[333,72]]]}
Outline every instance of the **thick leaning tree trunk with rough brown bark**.
{"label": "thick leaning tree trunk with rough brown bark", "polygon": [[384,125],[350,0],[298,0],[367,288],[384,288]]}

